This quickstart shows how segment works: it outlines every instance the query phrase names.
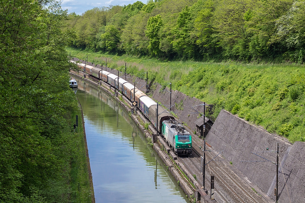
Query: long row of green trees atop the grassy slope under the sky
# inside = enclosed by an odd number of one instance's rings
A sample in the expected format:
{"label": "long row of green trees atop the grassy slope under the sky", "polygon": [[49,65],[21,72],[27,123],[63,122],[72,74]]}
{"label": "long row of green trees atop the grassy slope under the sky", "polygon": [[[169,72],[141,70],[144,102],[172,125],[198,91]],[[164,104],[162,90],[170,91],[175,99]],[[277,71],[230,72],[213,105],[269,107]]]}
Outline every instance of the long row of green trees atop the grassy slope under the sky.
{"label": "long row of green trees atop the grassy slope under the sky", "polygon": [[149,0],[69,14],[75,47],[163,59],[304,62],[299,0]]}

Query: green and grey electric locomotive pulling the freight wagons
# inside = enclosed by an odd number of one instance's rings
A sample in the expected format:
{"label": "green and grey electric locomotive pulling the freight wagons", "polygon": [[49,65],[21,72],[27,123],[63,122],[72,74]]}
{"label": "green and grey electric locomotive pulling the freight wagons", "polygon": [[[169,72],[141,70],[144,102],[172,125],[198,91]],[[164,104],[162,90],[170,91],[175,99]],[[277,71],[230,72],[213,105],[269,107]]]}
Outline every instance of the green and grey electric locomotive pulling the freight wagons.
{"label": "green and grey electric locomotive pulling the freight wagons", "polygon": [[176,154],[192,154],[192,136],[177,121],[163,121],[162,135]]}

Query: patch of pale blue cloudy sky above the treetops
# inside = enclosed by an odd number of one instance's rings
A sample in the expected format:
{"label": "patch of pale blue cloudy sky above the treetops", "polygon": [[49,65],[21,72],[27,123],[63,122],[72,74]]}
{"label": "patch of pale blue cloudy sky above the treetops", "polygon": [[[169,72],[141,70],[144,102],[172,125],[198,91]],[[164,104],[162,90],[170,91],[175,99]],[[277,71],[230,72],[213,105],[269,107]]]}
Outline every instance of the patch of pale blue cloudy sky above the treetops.
{"label": "patch of pale blue cloudy sky above the treetops", "polygon": [[128,5],[136,1],[137,0],[62,0],[61,6],[64,10],[68,9],[69,13],[75,12],[76,14],[81,15],[85,11],[93,9],[94,7],[102,7],[109,5]]}

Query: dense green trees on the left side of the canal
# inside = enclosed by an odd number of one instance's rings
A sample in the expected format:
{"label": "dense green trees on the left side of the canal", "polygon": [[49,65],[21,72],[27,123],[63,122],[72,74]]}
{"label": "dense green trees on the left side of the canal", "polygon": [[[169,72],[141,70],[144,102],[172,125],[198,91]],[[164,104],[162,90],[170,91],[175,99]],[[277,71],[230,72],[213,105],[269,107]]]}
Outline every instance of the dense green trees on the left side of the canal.
{"label": "dense green trees on the left side of the canal", "polygon": [[77,190],[85,152],[71,132],[67,11],[49,0],[1,1],[0,11],[0,202],[75,202],[88,178]]}

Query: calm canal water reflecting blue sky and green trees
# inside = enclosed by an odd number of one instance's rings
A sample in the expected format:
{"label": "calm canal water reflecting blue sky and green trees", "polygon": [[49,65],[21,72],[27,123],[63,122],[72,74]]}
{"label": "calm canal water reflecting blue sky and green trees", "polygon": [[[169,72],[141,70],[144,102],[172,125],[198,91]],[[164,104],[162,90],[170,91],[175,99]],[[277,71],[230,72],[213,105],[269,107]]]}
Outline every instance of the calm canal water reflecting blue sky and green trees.
{"label": "calm canal water reflecting blue sky and green trees", "polygon": [[189,202],[119,103],[77,82],[96,202]]}

